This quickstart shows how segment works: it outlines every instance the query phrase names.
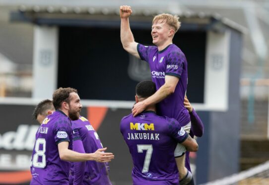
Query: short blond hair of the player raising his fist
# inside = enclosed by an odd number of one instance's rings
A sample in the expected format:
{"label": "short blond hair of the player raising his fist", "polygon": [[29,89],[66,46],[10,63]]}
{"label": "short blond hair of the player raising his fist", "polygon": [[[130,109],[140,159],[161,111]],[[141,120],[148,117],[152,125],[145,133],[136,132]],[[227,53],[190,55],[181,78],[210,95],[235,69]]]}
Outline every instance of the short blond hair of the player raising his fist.
{"label": "short blond hair of the player raising his fist", "polygon": [[178,31],[178,29],[181,26],[181,22],[179,21],[179,17],[177,15],[171,15],[168,13],[162,13],[159,15],[154,16],[152,20],[152,24],[160,21],[160,23],[165,22],[167,25],[174,28],[175,33]]}

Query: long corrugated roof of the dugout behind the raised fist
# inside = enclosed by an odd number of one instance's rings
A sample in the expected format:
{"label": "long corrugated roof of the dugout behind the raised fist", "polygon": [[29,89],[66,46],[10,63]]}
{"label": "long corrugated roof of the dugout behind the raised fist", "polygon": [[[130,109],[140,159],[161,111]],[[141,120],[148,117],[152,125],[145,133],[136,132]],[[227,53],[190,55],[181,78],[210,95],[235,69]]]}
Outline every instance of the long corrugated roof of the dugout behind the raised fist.
{"label": "long corrugated roof of the dugout behind the raised fist", "polygon": [[[135,7],[131,21],[132,27],[149,28],[153,15],[173,13],[180,16],[181,30],[214,30],[224,31],[227,27],[246,33],[247,29],[240,24],[221,17],[217,13],[191,12],[163,8]],[[59,26],[94,26],[119,27],[119,7],[114,6],[39,6],[21,5],[10,14],[11,21],[24,21],[38,25]]]}

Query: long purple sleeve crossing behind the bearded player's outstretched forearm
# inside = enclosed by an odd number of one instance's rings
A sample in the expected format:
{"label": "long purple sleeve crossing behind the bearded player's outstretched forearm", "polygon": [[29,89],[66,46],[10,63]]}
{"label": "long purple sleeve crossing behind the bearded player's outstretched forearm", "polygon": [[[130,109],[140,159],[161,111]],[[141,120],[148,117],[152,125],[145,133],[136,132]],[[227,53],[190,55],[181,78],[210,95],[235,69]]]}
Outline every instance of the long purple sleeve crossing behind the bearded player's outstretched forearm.
{"label": "long purple sleeve crossing behind the bearded player's outstretched forearm", "polygon": [[[85,153],[81,140],[73,141],[73,150],[78,153]],[[86,162],[74,162],[73,185],[82,185]]]}

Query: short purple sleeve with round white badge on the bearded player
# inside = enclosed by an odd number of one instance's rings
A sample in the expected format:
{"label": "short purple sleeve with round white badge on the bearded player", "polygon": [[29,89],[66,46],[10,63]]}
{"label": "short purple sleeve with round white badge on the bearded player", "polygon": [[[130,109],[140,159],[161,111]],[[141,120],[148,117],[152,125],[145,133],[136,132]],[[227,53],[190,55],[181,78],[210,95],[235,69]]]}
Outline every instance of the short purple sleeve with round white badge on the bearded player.
{"label": "short purple sleeve with round white badge on the bearded player", "polygon": [[70,123],[70,120],[67,118],[59,118],[59,120],[55,122],[54,139],[56,144],[63,141],[68,141],[70,143],[70,140],[72,139],[72,129]]}

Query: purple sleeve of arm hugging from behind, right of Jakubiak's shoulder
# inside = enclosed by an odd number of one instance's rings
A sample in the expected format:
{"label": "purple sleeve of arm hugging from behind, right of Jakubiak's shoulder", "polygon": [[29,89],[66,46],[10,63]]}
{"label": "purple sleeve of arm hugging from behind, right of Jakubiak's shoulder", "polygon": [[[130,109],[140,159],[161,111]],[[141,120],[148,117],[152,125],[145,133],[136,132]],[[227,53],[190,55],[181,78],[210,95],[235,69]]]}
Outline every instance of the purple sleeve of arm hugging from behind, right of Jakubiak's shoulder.
{"label": "purple sleeve of arm hugging from behind, right of Jakubiak's shoulder", "polygon": [[191,126],[192,132],[194,133],[195,136],[202,137],[202,134],[203,134],[202,120],[200,119],[200,117],[198,116],[198,114],[196,113],[194,109],[190,113],[190,116],[191,116],[191,122],[192,122],[192,126]]}

